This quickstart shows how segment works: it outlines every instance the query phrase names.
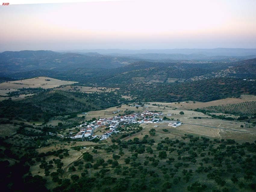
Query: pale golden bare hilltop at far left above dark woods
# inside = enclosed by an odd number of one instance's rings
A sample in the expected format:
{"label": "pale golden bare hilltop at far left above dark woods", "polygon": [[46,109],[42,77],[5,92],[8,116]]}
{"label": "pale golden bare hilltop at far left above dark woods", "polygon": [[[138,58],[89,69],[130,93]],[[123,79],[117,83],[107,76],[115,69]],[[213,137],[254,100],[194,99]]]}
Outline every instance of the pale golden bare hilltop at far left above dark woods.
{"label": "pale golden bare hilltop at far left above dark woods", "polygon": [[8,81],[0,83],[0,89],[20,89],[20,88],[39,88],[44,89],[55,88],[61,85],[71,85],[77,82],[62,81],[50,77],[36,77],[32,79],[24,79],[19,81]]}

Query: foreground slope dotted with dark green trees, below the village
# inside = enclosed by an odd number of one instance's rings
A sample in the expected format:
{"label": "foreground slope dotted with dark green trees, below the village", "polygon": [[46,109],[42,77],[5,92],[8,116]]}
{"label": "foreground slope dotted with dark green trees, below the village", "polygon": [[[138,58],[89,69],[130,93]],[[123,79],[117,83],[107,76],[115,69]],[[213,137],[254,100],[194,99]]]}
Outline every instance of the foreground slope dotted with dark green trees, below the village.
{"label": "foreground slope dotted with dark green trees, below the village", "polygon": [[[155,135],[127,141],[117,138],[113,144],[95,147],[96,153],[83,153],[83,158],[67,170],[62,163],[62,159],[69,158],[67,150],[37,153],[30,149],[16,156],[11,150],[2,150],[2,157],[23,162],[11,165],[2,161],[1,170],[9,175],[2,175],[2,181],[9,183],[6,190],[11,191],[18,184],[21,191],[34,185],[40,186],[41,189],[35,187],[39,191],[47,191],[46,178],[55,185],[53,191],[255,190],[256,142],[238,144],[232,139],[210,140],[186,134],[180,140],[167,137],[158,143],[154,138]],[[45,157],[52,160],[45,161]],[[36,162],[45,176],[30,175],[30,166]],[[22,171],[12,172],[13,169]]]}

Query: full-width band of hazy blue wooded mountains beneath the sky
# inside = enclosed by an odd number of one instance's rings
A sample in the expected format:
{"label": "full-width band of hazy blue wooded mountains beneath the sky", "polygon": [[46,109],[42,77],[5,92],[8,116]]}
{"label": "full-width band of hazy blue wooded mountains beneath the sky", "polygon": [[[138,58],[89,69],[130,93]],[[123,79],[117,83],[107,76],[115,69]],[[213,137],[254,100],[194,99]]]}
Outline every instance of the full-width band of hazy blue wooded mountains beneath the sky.
{"label": "full-width band of hazy blue wooded mountains beneath the sky", "polygon": [[[135,82],[186,82],[216,77],[256,79],[256,58],[241,60],[252,56],[239,56],[240,59],[238,56],[230,58],[202,54],[147,53],[123,56],[106,56],[96,52],[5,51],[0,54],[0,76],[16,79],[48,76],[102,86]],[[201,60],[191,62],[198,57]],[[206,58],[211,62],[205,61]]]}

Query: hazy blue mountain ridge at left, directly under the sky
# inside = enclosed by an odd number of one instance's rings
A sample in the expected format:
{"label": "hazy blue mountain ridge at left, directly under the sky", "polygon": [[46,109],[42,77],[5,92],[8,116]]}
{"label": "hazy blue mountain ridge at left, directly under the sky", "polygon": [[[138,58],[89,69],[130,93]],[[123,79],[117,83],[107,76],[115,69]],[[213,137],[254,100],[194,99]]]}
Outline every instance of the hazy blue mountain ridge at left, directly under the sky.
{"label": "hazy blue mountain ridge at left, directly under the sky", "polygon": [[5,51],[0,53],[2,74],[30,70],[71,70],[77,68],[115,68],[141,59],[106,56],[98,53],[58,53],[54,51]]}

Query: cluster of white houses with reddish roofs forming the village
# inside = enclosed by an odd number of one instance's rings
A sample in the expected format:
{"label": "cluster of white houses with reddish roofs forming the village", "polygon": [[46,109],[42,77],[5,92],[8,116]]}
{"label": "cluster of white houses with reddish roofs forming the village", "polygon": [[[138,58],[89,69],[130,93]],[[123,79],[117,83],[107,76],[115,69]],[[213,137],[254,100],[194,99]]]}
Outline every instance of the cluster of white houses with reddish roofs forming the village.
{"label": "cluster of white houses with reddish roofs forming the village", "polygon": [[[124,116],[114,116],[110,118],[100,118],[98,120],[92,121],[90,123],[83,123],[81,125],[77,125],[77,128],[80,129],[75,135],[71,135],[70,138],[77,139],[77,138],[87,138],[92,140],[94,138],[98,138],[100,140],[107,139],[114,133],[118,133],[119,128],[123,127],[124,125],[129,125],[133,123],[158,123],[161,122],[163,119],[159,116],[164,115],[163,113],[159,112],[149,112],[144,111],[143,113],[133,113],[130,115]],[[168,114],[170,116],[170,114]],[[181,122],[170,122],[168,126],[177,127],[181,125]],[[157,127],[157,125],[155,125]],[[94,131],[96,129],[105,129],[109,130],[102,135],[95,135]]]}

